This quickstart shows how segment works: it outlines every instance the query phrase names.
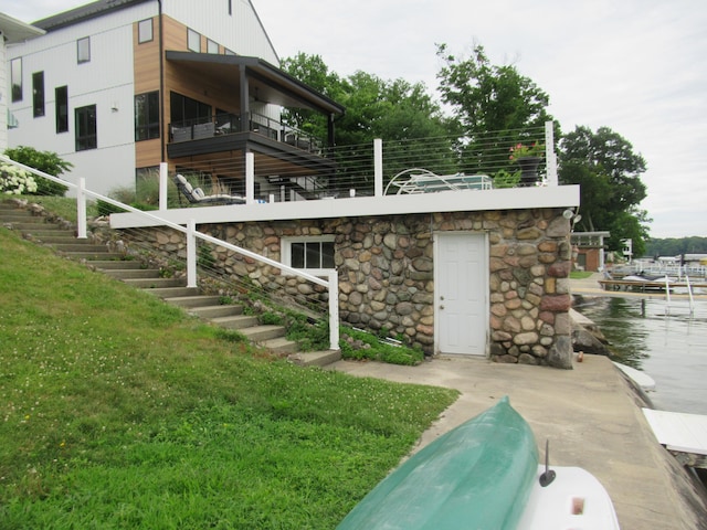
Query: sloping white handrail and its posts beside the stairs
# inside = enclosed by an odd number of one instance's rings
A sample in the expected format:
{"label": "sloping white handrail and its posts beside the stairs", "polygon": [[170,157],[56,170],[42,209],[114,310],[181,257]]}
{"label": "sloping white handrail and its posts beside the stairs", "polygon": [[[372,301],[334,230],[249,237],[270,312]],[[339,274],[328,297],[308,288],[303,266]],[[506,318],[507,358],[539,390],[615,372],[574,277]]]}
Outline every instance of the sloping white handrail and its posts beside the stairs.
{"label": "sloping white handrail and its posts beside the stairs", "polygon": [[[326,287],[329,292],[329,348],[331,350],[338,350],[339,349],[339,289],[338,289],[338,277],[336,272],[331,272],[329,274],[329,278],[328,280],[326,279],[321,279],[317,276],[313,276],[312,274],[305,273],[303,271],[293,268],[288,265],[285,265],[284,263],[279,263],[276,262],[274,259],[271,259],[268,257],[262,256],[260,254],[256,254],[254,252],[247,251],[245,248],[241,248],[240,246],[236,245],[232,245],[231,243],[223,241],[223,240],[219,240],[217,237],[213,237],[209,234],[204,234],[203,232],[199,232],[198,230],[196,230],[196,221],[189,220],[188,225],[184,227],[180,224],[177,223],[172,223],[171,221],[168,221],[166,219],[160,218],[159,215],[155,215],[154,213],[150,212],[146,212],[143,210],[138,210],[137,208],[130,206],[128,204],[124,204],[119,201],[116,201],[114,199],[110,199],[109,197],[105,197],[102,195],[101,193],[96,193],[94,191],[87,190],[85,189],[85,180],[84,178],[80,178],[80,184],[74,184],[73,182],[68,182],[65,180],[62,180],[57,177],[54,177],[52,174],[48,174],[43,171],[40,171],[38,169],[31,168],[29,166],[25,166],[23,163],[17,162],[14,160],[12,160],[11,158],[4,156],[4,155],[0,155],[0,160],[7,162],[7,163],[11,163],[14,165],[25,171],[29,171],[33,174],[36,174],[39,177],[45,178],[48,180],[51,180],[52,182],[56,182],[60,183],[62,186],[65,186],[67,188],[72,188],[72,189],[76,189],[77,190],[77,199],[76,199],[76,210],[77,210],[77,224],[78,224],[78,234],[86,234],[86,197],[91,197],[104,202],[107,202],[108,204],[112,204],[114,206],[120,208],[123,210],[127,210],[128,212],[131,213],[137,213],[138,215],[143,215],[145,218],[150,219],[151,221],[157,221],[160,224],[165,225],[165,226],[169,226],[170,229],[173,229],[178,232],[181,232],[182,234],[184,234],[187,236],[187,284],[190,287],[196,287],[197,285],[197,245],[196,245],[196,240],[200,239],[202,241],[207,241],[209,243],[212,243],[214,245],[221,246],[223,248],[226,248],[229,251],[233,251],[238,254],[244,255],[246,257],[250,257],[252,259],[255,259],[257,262],[264,263],[266,265],[270,265],[272,267],[278,268],[279,271],[283,271],[287,274],[292,274],[293,276],[298,276],[303,279],[306,279],[308,282],[312,282],[314,284],[320,285],[323,287]],[[82,212],[83,212],[83,216],[82,216]],[[85,235],[84,235],[85,237]],[[191,250],[191,252],[189,252]]]}

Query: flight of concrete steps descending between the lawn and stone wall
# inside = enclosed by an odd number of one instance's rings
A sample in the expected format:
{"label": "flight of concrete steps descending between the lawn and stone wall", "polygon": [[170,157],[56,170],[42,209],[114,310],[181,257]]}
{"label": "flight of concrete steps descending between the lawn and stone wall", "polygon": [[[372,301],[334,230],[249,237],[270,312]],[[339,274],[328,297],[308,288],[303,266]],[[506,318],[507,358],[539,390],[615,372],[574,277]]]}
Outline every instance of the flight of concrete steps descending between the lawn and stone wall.
{"label": "flight of concrete steps descending between the lawn and stone wall", "polygon": [[106,245],[96,245],[89,239],[78,240],[73,227],[49,222],[41,212],[20,209],[14,202],[0,202],[0,226],[20,231],[25,239],[50,246],[59,255],[85,263],[94,271],[146,290],[203,320],[238,330],[251,342],[278,356],[287,356],[297,364],[326,365],[340,359],[339,351],[298,352],[297,343],[285,338],[283,326],[261,325],[256,316],[244,314],[243,306],[222,304],[219,296],[187,287],[186,278],[162,277],[161,271],[146,268],[136,259],[126,259]]}

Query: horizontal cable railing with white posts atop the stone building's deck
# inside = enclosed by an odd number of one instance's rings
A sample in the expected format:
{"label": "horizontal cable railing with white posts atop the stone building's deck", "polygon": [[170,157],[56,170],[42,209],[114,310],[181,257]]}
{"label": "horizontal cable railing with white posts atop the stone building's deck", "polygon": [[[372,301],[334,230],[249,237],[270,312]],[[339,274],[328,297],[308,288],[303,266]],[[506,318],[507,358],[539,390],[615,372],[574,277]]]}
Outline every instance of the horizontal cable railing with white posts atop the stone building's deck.
{"label": "horizontal cable railing with white posts atop the stone building's deck", "polygon": [[529,188],[557,186],[553,144],[551,124],[547,124],[529,131],[506,130],[474,138],[337,146],[327,150],[326,157],[302,160],[271,153],[253,162],[252,176],[244,172],[242,157],[230,155],[183,162],[173,172],[201,187],[207,195],[246,199],[251,177],[252,202]]}

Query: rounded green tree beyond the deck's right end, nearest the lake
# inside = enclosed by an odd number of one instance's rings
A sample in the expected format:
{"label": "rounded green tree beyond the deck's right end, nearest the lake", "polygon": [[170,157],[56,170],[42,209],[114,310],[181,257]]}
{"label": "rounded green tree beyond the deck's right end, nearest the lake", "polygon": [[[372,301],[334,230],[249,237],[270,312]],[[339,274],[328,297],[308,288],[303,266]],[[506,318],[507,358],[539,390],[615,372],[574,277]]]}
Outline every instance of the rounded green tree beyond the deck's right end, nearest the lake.
{"label": "rounded green tree beyond the deck's right end, nearest the lake", "polygon": [[609,231],[609,247],[621,250],[621,240],[633,240],[634,255],[645,251],[650,219],[639,204],[646,197],[641,174],[645,160],[633,146],[609,127],[592,132],[578,126],[560,142],[559,180],[580,184],[579,226],[583,231]]}

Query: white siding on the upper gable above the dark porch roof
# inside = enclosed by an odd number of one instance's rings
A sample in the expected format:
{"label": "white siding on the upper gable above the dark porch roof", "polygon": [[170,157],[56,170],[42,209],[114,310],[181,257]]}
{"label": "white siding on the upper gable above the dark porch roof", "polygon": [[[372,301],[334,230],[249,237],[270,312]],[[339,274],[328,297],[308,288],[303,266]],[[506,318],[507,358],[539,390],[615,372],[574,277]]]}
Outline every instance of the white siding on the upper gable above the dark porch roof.
{"label": "white siding on the upper gable above the dark porch roof", "polygon": [[[266,0],[265,0],[266,1]],[[163,12],[239,55],[261,57],[279,66],[277,53],[250,0],[165,0]]]}

